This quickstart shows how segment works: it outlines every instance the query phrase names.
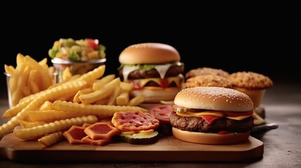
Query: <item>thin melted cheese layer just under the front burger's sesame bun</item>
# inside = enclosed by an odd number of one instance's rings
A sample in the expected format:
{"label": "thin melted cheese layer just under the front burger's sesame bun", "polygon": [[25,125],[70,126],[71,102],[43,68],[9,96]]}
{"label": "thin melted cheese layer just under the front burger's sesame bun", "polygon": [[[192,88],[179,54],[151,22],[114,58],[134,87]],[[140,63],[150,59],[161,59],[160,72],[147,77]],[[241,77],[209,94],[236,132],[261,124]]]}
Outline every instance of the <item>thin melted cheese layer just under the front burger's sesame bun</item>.
{"label": "thin melted cheese layer just under the front burger's sesame bun", "polygon": [[[182,117],[201,117],[204,115],[210,115],[210,116],[217,116],[217,117],[224,117],[225,114],[222,113],[221,111],[202,111],[202,112],[176,112],[178,114],[178,116],[182,116]],[[232,120],[243,120],[245,118],[248,118],[252,115],[248,115],[248,116],[237,116],[237,117],[232,117],[232,116],[225,116],[225,118],[229,118]]]}

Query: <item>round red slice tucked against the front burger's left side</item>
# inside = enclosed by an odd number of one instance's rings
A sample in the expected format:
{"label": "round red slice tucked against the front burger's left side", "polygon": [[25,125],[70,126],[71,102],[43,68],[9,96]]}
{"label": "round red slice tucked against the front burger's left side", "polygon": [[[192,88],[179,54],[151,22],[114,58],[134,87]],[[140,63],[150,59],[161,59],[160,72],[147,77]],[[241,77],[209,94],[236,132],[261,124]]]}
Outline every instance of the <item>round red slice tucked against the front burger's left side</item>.
{"label": "round red slice tucked against the front burger's left side", "polygon": [[149,113],[151,113],[160,122],[170,123],[170,115],[175,112],[173,111],[173,104],[161,104],[152,106],[152,108],[149,109]]}

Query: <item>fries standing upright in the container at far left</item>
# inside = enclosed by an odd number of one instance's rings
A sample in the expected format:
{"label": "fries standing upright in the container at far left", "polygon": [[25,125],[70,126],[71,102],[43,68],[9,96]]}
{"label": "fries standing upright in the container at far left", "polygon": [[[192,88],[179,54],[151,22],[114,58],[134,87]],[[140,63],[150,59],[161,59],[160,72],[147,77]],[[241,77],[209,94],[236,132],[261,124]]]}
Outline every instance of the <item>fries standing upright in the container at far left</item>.
{"label": "fries standing upright in the container at far left", "polygon": [[17,65],[4,64],[9,78],[8,90],[11,94],[11,104],[15,106],[20,99],[30,94],[46,90],[54,83],[54,68],[47,65],[47,58],[36,62],[29,55],[18,54]]}

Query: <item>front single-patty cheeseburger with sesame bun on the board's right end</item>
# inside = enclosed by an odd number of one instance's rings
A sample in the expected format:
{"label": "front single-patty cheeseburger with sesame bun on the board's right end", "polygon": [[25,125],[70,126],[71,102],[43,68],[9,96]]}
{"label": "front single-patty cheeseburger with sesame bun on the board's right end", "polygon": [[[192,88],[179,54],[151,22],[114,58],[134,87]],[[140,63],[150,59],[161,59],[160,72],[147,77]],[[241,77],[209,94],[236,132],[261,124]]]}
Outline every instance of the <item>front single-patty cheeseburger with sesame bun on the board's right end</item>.
{"label": "front single-patty cheeseburger with sesame bun on the board's right end", "polygon": [[197,144],[238,144],[253,128],[253,102],[225,87],[190,87],[175,96],[173,135]]}

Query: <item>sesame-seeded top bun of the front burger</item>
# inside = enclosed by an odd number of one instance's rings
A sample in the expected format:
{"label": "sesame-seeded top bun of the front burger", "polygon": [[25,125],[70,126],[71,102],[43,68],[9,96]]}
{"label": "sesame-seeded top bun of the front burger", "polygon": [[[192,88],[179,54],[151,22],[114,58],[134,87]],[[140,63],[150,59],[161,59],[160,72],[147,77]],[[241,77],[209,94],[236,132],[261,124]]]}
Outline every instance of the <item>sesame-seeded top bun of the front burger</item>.
{"label": "sesame-seeded top bun of the front burger", "polygon": [[225,87],[189,87],[178,92],[175,105],[189,109],[246,112],[253,110],[247,94]]}

